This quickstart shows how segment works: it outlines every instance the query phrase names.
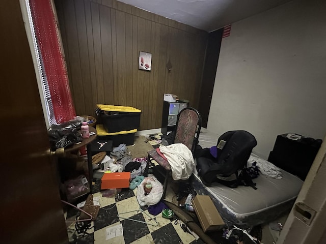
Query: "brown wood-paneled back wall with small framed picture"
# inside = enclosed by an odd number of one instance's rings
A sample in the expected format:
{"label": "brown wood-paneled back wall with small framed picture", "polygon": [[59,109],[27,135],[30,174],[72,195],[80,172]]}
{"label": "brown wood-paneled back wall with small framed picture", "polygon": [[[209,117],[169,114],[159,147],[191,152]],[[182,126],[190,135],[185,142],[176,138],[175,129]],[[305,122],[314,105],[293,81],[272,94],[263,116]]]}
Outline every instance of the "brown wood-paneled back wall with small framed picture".
{"label": "brown wood-paneled back wall with small framed picture", "polygon": [[[206,32],[115,0],[55,5],[78,115],[94,115],[96,104],[131,106],[146,130],[161,127],[164,93],[198,108]],[[150,72],[138,69],[139,51],[152,53]]]}

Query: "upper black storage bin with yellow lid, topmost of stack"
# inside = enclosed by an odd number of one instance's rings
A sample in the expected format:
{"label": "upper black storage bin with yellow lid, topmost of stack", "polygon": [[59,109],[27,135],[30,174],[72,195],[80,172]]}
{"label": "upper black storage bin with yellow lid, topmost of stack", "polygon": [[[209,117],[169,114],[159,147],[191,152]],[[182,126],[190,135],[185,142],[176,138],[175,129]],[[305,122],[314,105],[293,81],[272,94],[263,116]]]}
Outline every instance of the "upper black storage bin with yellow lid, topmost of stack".
{"label": "upper black storage bin with yellow lid, topmost of stack", "polygon": [[126,106],[97,104],[103,111],[101,121],[107,133],[130,131],[140,126],[142,111]]}

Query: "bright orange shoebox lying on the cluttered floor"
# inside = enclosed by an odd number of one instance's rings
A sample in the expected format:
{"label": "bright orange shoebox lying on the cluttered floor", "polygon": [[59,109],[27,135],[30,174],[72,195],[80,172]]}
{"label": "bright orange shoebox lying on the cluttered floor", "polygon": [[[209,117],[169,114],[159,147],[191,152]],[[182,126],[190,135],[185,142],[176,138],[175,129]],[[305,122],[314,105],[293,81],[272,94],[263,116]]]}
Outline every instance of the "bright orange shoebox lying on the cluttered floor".
{"label": "bright orange shoebox lying on the cluttered floor", "polygon": [[102,189],[129,188],[130,172],[105,173],[102,177]]}

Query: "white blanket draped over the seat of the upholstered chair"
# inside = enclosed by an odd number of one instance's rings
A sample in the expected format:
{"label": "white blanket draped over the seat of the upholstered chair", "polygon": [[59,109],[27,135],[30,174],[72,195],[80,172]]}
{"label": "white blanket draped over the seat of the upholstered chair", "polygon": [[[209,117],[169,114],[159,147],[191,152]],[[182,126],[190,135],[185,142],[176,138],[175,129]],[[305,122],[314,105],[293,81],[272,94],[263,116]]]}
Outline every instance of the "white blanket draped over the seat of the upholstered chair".
{"label": "white blanket draped over the seat of the upholstered chair", "polygon": [[161,145],[159,149],[171,165],[174,180],[188,179],[192,175],[195,162],[188,147],[182,143],[175,143],[169,146]]}

